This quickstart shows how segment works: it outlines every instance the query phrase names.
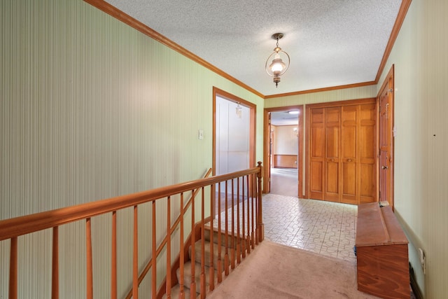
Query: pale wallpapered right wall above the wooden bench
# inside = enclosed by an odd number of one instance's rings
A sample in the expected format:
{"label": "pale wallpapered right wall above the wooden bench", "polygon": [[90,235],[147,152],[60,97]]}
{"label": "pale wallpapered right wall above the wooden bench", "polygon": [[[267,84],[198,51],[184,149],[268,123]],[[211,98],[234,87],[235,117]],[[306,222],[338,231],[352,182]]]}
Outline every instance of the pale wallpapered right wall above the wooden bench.
{"label": "pale wallpapered right wall above the wooden bench", "polygon": [[412,1],[380,79],[393,64],[395,214],[412,242],[409,258],[425,298],[448,293],[447,14],[447,1]]}

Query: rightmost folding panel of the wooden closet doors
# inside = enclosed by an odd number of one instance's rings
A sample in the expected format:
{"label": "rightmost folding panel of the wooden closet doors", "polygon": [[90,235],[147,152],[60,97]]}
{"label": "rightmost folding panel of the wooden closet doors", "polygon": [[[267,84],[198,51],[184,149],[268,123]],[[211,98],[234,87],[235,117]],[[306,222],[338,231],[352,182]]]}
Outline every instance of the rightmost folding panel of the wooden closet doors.
{"label": "rightmost folding panel of the wooden closet doors", "polygon": [[360,105],[359,125],[359,204],[377,201],[375,151],[376,105]]}

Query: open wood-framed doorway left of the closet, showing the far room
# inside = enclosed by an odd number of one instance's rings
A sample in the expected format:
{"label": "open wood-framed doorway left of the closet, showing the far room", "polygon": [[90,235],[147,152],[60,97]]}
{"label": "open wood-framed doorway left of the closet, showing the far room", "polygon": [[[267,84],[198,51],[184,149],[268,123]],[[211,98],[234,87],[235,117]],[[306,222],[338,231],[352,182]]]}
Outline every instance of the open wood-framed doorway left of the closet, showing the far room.
{"label": "open wood-framed doorway left of the closet, showing the far room", "polygon": [[263,192],[302,196],[303,106],[265,109]]}

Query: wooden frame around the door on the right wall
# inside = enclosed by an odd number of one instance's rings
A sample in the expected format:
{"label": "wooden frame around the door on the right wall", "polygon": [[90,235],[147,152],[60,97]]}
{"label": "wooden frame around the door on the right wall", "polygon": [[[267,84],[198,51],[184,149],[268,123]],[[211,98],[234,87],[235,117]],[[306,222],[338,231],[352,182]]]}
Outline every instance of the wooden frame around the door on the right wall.
{"label": "wooden frame around the door on the right wall", "polygon": [[379,89],[378,95],[377,95],[377,171],[378,171],[378,175],[377,175],[377,198],[378,200],[381,200],[381,197],[379,196],[379,190],[381,189],[380,183],[381,183],[381,164],[380,164],[380,157],[379,157],[379,152],[380,152],[380,144],[379,144],[379,130],[381,129],[379,126],[379,101],[381,99],[381,95],[383,94],[383,92],[385,90],[388,90],[388,97],[389,97],[389,107],[388,107],[388,111],[389,111],[389,115],[390,117],[388,118],[388,127],[386,128],[386,130],[388,130],[388,132],[390,132],[391,134],[389,134],[389,144],[390,144],[390,153],[389,153],[389,165],[388,165],[388,170],[389,170],[389,178],[388,178],[388,184],[389,184],[389,190],[388,190],[388,203],[391,206],[392,211],[393,206],[394,206],[394,200],[393,200],[393,173],[394,173],[394,161],[395,161],[395,155],[394,155],[394,126],[395,126],[395,121],[394,121],[394,114],[395,114],[395,110],[394,110],[394,99],[395,99],[395,88],[394,88],[394,64],[392,64],[391,69],[388,71],[386,78],[384,78],[384,82],[381,85],[381,88]]}

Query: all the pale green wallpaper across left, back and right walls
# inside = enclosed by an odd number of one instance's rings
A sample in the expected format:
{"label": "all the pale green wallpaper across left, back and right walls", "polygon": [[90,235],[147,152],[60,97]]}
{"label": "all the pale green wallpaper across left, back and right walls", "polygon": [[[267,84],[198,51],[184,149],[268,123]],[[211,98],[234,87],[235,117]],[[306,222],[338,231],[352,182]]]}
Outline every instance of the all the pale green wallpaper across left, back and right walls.
{"label": "all the pale green wallpaper across left, back and right walls", "polygon": [[[263,101],[81,0],[0,1],[0,219],[199,178],[211,167],[213,86],[257,104],[256,155],[262,160],[264,106],[375,97],[394,65],[395,210],[425,298],[443,298],[447,13],[447,1],[412,1],[376,86]],[[203,140],[197,130],[204,130]],[[150,209],[139,211],[145,227]],[[130,287],[130,214],[119,213],[119,295]],[[92,223],[94,246],[110,242],[108,222],[102,216]],[[165,228],[158,218],[158,229]],[[84,234],[83,223],[61,228],[61,298],[85,296]],[[141,264],[150,254],[147,238],[141,232]],[[50,239],[49,231],[19,239],[25,260],[19,265],[25,281],[20,298],[49,297]],[[0,242],[0,298],[7,296],[8,246]],[[426,275],[419,247],[426,253]],[[109,296],[109,254],[94,251],[98,298]],[[162,276],[162,264],[159,269]]]}

